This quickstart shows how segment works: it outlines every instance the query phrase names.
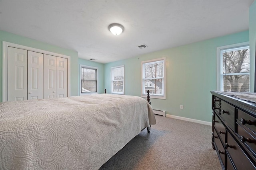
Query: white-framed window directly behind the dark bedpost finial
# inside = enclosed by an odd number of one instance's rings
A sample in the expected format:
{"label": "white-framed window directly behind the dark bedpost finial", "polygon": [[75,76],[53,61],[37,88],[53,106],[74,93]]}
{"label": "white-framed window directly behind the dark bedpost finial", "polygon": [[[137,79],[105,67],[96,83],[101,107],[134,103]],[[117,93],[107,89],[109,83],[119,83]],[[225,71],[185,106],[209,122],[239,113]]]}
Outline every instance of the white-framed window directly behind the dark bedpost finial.
{"label": "white-framed window directly behind the dark bedpost finial", "polygon": [[141,96],[146,97],[150,91],[150,98],[166,99],[165,58],[142,61],[142,90]]}

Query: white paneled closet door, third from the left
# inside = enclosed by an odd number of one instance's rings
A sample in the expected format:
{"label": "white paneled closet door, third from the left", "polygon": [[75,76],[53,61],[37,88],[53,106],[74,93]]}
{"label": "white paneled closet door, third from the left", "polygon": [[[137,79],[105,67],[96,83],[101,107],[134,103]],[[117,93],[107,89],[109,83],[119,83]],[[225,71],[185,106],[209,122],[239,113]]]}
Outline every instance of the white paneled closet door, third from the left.
{"label": "white paneled closet door, third from the left", "polygon": [[44,54],[44,99],[56,98],[56,57]]}

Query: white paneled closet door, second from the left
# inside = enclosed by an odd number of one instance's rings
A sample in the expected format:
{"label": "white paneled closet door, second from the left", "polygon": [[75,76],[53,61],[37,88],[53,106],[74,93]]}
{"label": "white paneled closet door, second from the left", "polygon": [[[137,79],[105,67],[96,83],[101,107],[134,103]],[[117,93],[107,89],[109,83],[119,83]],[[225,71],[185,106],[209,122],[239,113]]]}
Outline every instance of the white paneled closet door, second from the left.
{"label": "white paneled closet door, second from the left", "polygon": [[43,99],[43,57],[28,51],[28,100]]}

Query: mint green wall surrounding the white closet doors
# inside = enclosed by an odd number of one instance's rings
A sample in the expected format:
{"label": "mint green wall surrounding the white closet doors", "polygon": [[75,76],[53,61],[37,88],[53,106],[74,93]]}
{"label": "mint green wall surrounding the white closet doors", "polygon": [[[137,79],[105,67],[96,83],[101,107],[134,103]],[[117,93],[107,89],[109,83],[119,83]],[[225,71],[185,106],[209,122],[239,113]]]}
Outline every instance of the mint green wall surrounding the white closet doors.
{"label": "mint green wall surrounding the white closet doors", "polygon": [[78,95],[78,52],[0,30],[0,102],[2,102],[2,41],[70,56],[70,95]]}

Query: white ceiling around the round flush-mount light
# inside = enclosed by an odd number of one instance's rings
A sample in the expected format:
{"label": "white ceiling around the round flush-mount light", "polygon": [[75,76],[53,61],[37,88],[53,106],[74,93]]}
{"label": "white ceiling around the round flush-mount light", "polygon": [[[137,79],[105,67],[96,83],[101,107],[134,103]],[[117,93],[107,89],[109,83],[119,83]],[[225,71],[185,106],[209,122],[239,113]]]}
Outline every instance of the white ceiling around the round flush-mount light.
{"label": "white ceiling around the round flush-mount light", "polygon": [[109,63],[247,30],[253,1],[0,0],[0,29]]}

